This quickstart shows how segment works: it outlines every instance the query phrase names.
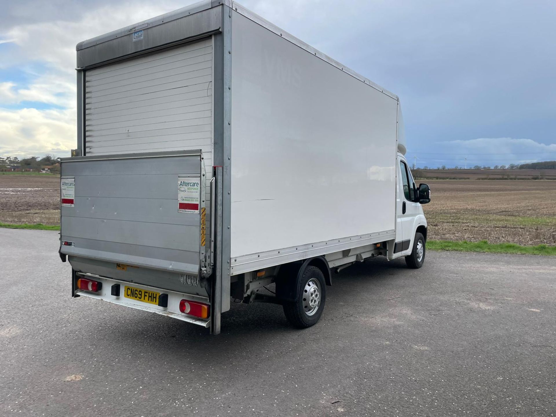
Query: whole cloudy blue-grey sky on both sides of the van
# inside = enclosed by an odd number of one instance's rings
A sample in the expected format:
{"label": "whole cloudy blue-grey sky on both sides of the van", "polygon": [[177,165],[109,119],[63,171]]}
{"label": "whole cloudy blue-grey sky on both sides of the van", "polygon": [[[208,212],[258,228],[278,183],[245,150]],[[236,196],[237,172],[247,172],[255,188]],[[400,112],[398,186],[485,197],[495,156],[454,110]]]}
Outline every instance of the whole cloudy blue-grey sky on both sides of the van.
{"label": "whole cloudy blue-grey sky on both sides of the van", "polygon": [[[190,0],[0,0],[0,156],[76,146],[75,45]],[[420,167],[556,160],[556,1],[244,0],[400,96]]]}

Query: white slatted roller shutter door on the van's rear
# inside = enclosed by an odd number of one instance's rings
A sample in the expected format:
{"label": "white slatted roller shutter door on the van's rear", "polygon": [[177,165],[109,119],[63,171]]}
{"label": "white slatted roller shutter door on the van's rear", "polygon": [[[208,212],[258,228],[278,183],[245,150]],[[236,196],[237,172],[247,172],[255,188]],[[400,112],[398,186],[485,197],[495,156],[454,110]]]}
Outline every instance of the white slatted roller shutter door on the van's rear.
{"label": "white slatted roller shutter door on the van's rear", "polygon": [[202,149],[212,165],[212,39],[85,77],[86,155]]}

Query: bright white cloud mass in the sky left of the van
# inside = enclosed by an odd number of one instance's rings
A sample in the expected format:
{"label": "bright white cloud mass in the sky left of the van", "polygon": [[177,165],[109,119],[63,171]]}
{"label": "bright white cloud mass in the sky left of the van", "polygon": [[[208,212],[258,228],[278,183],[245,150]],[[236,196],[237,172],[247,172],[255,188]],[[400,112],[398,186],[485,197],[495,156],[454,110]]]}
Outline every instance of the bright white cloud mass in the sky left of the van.
{"label": "bright white cloud mass in the sky left of the van", "polygon": [[[60,19],[9,29],[6,37],[19,48],[11,48],[6,59],[0,59],[0,67],[41,62],[45,69],[27,86],[9,80],[0,82],[0,155],[68,156],[69,150],[77,146],[75,45],[181,6],[177,2],[149,2],[134,7],[123,3],[93,9],[75,22]],[[1,108],[25,101],[55,105],[62,110]]]}

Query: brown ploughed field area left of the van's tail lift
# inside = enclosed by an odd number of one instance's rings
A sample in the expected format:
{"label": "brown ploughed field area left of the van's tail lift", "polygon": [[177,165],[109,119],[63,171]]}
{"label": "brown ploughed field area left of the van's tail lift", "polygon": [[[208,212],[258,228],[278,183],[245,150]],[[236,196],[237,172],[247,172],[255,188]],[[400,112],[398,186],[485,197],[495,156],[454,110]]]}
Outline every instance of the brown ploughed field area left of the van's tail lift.
{"label": "brown ploughed field area left of the van's tail lift", "polygon": [[0,223],[58,225],[58,175],[2,175]]}

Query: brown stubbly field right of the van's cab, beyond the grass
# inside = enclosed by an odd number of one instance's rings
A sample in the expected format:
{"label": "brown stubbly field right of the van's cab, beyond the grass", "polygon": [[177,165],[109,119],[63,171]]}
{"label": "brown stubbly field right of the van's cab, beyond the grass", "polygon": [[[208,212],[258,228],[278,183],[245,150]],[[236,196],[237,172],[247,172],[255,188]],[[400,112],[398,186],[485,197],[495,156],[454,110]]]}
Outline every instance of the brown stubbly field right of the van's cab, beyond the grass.
{"label": "brown stubbly field right of the van's cab, beyond the grass", "polygon": [[417,180],[429,239],[556,245],[556,181]]}

